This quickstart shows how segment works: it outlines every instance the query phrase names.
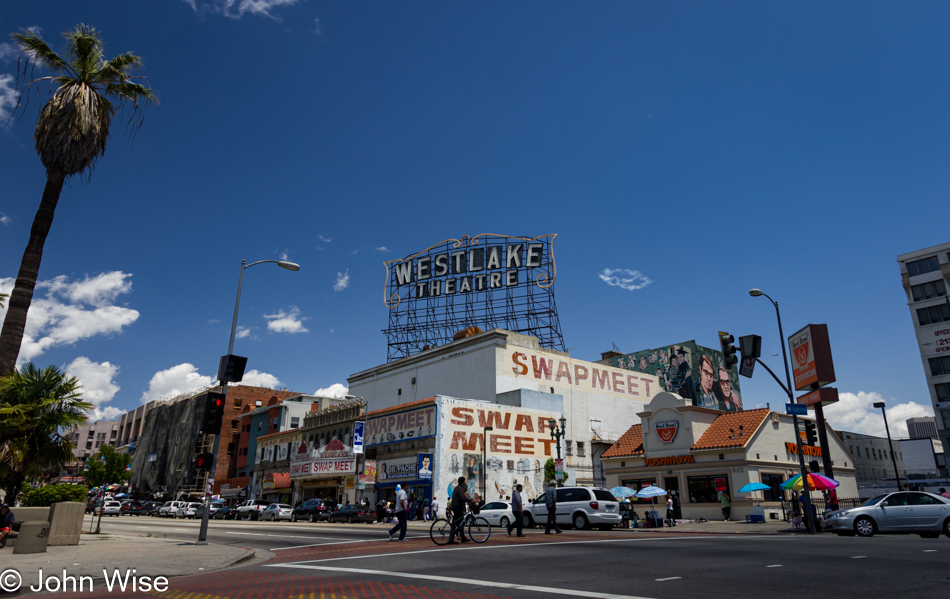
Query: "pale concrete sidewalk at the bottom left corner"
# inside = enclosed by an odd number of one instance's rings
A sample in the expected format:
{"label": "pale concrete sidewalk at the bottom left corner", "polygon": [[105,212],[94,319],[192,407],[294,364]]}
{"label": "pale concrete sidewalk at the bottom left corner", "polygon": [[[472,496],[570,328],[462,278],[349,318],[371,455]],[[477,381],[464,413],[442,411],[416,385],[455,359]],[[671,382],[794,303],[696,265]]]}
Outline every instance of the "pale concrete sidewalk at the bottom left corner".
{"label": "pale concrete sidewalk at the bottom left corner", "polygon": [[[105,586],[103,569],[109,576],[114,570],[124,575],[127,569],[134,568],[134,576],[171,579],[220,570],[249,561],[254,556],[253,549],[232,545],[195,545],[177,539],[84,534],[79,545],[49,547],[46,553],[14,555],[12,547],[0,549],[0,571],[12,568],[19,572],[22,577],[20,593],[27,595],[31,594],[29,587],[36,586],[41,569],[44,579],[54,575],[62,578],[63,570],[77,579],[90,576],[95,588],[100,589]],[[4,586],[10,584],[3,580],[2,574],[0,583],[6,583]],[[71,591],[71,587],[68,590]],[[13,595],[0,590],[0,597],[8,596]]]}

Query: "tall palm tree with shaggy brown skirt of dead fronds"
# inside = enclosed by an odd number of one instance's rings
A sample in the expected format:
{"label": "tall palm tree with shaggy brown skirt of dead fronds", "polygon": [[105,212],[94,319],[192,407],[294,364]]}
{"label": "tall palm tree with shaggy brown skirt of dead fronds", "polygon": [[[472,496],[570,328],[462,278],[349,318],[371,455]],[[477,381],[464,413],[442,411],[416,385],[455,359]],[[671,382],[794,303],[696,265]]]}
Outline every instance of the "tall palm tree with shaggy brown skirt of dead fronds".
{"label": "tall palm tree with shaggy brown skirt of dead fronds", "polygon": [[[141,125],[141,109],[157,102],[155,92],[136,83],[131,73],[142,67],[135,54],[120,54],[106,60],[102,40],[92,27],[78,25],[63,33],[67,59],[53,52],[39,36],[29,32],[12,35],[26,61],[45,67],[53,75],[40,77],[22,87],[26,93],[48,83],[56,90],[40,111],[33,139],[36,153],[46,167],[43,199],[33,218],[30,240],[20,261],[20,271],[10,295],[7,315],[0,332],[0,375],[16,366],[26,315],[43,259],[43,245],[53,224],[53,213],[67,178],[91,171],[106,151],[109,125],[117,109],[129,108],[132,130]],[[25,69],[20,71],[25,72]]]}

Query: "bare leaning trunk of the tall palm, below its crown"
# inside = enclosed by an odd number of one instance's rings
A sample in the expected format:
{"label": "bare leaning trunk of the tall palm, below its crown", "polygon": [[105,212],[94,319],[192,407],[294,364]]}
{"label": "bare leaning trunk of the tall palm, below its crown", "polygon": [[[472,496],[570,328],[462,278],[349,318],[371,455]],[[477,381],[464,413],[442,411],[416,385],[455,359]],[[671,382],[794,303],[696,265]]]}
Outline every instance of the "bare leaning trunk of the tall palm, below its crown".
{"label": "bare leaning trunk of the tall palm, below its crown", "polygon": [[16,367],[23,330],[26,328],[26,314],[33,302],[33,289],[36,287],[40,262],[43,260],[43,246],[53,225],[53,213],[56,211],[65,179],[61,170],[48,171],[46,174],[43,199],[36,216],[33,217],[30,241],[26,244],[23,259],[20,261],[20,272],[17,273],[13,293],[7,302],[7,315],[3,319],[3,331],[0,332],[0,376],[12,372]]}

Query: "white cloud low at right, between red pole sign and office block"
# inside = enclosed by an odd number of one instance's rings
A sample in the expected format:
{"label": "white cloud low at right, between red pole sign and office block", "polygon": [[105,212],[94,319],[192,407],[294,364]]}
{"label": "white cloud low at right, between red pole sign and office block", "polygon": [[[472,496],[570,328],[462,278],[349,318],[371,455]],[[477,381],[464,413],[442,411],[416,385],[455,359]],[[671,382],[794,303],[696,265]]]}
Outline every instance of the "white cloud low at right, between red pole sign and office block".
{"label": "white cloud low at right, between red pole sign and office block", "polygon": [[865,435],[885,437],[884,418],[880,408],[872,404],[884,401],[887,411],[887,424],[894,439],[908,438],[908,418],[933,417],[933,408],[914,401],[898,403],[891,399],[885,401],[880,393],[858,391],[838,393],[838,403],[825,406],[825,420],[837,431],[851,431]]}

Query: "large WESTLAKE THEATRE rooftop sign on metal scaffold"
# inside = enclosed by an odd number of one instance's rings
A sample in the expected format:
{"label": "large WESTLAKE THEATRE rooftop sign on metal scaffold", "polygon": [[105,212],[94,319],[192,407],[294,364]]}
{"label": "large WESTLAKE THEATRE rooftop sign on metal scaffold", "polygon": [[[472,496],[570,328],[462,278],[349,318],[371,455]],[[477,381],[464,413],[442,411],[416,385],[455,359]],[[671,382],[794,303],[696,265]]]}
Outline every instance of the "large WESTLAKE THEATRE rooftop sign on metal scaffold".
{"label": "large WESTLAKE THEATRE rooftop sign on metal scaffold", "polygon": [[555,237],[464,235],[386,262],[388,360],[449,343],[471,327],[533,335],[563,351]]}

